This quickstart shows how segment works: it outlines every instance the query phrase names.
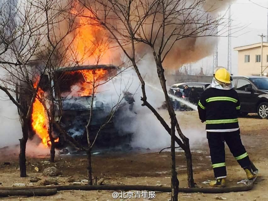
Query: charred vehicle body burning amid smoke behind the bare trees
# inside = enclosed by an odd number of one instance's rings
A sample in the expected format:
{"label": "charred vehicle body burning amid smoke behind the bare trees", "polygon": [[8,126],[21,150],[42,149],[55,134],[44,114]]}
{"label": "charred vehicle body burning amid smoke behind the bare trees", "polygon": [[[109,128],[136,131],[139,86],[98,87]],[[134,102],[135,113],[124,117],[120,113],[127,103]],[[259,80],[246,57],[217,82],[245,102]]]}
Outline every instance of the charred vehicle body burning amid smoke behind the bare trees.
{"label": "charred vehicle body burning amid smoke behind the bare trees", "polygon": [[[60,124],[60,126],[73,137],[82,146],[87,146],[87,133],[86,124],[89,120],[89,112],[91,110],[90,103],[92,96],[71,96],[69,98],[61,96],[62,91],[71,91],[70,86],[76,82],[79,82],[83,78],[81,70],[97,70],[103,69],[108,73],[105,76],[116,77],[120,69],[113,65],[87,65],[87,66],[75,66],[75,67],[62,67],[57,69],[53,74],[51,83],[47,74],[43,75],[40,80],[40,87],[42,90],[47,91],[48,84],[51,84],[53,89],[53,100],[56,103],[54,108],[54,119]],[[70,72],[74,75],[70,76]],[[98,96],[98,95],[97,95]],[[120,103],[114,115],[109,123],[98,133],[95,147],[98,149],[114,148],[118,146],[130,147],[132,133],[125,133],[122,130],[115,128],[116,119],[120,118],[120,115],[124,110],[132,110],[133,107],[133,95],[129,92],[125,93],[124,103]],[[50,104],[49,101],[47,101]],[[103,103],[102,100],[98,100],[96,95],[93,100],[92,108],[92,122],[90,124],[90,141],[94,141],[96,134],[100,127],[108,119],[111,107],[109,104]],[[77,134],[78,133],[78,134]],[[59,141],[55,143],[55,147],[63,149],[68,146],[61,138],[59,130],[53,125],[53,136],[59,137]]]}

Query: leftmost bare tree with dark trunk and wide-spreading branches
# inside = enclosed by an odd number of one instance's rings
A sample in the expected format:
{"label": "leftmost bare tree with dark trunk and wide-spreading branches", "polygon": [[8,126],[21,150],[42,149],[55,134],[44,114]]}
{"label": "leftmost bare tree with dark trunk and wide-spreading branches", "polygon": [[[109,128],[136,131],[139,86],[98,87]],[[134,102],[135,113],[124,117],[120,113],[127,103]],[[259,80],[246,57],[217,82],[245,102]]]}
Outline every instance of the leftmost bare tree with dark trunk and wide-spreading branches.
{"label": "leftmost bare tree with dark trunk and wide-spreading branches", "polygon": [[[32,130],[31,115],[39,90],[39,80],[45,74],[54,51],[70,33],[72,26],[66,32],[57,34],[55,29],[50,28],[66,20],[62,14],[70,10],[71,5],[62,6],[59,2],[53,1],[43,4],[38,0],[21,2],[18,5],[12,1],[5,1],[1,5],[0,64],[6,76],[1,79],[0,89],[17,106],[20,116],[21,177],[26,177],[25,150]],[[68,19],[71,21],[71,18]],[[45,50],[49,50],[48,57],[40,59],[40,53]]]}

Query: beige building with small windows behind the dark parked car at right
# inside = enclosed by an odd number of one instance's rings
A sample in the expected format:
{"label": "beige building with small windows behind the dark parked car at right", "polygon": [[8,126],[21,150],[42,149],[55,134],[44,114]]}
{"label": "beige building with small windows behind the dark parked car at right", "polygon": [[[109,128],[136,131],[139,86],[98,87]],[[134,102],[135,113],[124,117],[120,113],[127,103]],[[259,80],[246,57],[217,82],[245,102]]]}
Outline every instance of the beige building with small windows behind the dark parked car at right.
{"label": "beige building with small windows behind the dark parked car at right", "polygon": [[[261,43],[235,47],[238,51],[238,75],[260,75]],[[268,76],[268,43],[263,43],[262,71]]]}

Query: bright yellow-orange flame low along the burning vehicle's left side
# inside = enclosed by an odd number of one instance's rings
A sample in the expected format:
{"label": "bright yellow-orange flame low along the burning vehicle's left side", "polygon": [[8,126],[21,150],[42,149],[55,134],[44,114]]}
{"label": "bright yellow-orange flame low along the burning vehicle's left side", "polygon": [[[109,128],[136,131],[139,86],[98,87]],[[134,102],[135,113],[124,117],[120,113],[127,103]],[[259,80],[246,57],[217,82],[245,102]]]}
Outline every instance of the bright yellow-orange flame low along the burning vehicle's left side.
{"label": "bright yellow-orange flame low along the burning vehicle's left side", "polygon": [[[36,88],[38,80],[34,83],[34,88]],[[45,111],[45,107],[40,102],[40,100],[37,98],[43,98],[44,97],[44,91],[41,88],[38,88],[37,95],[35,98],[35,101],[33,103],[33,111],[31,115],[32,119],[32,128],[36,132],[36,134],[42,139],[42,144],[44,144],[45,147],[48,147],[48,145],[51,144],[49,134],[48,134],[48,118],[47,113]],[[58,142],[59,139],[56,139],[55,142]]]}

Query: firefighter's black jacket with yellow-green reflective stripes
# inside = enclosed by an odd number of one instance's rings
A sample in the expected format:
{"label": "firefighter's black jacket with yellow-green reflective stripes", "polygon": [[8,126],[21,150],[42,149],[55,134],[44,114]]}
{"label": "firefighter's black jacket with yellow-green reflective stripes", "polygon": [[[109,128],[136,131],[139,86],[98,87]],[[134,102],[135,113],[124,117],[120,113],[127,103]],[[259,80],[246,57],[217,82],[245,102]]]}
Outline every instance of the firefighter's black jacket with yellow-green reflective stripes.
{"label": "firefighter's black jacket with yellow-green reflective stripes", "polygon": [[198,102],[199,118],[208,132],[233,132],[239,129],[237,114],[240,101],[234,89],[209,88]]}

